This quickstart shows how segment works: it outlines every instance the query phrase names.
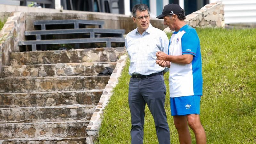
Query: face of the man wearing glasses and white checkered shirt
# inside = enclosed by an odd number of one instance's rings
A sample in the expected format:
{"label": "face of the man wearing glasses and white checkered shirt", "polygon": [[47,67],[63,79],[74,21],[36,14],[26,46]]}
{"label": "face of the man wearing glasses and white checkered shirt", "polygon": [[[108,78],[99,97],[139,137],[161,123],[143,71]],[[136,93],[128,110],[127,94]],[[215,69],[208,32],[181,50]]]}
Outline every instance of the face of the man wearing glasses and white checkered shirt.
{"label": "face of the man wearing glasses and white checkered shirt", "polygon": [[148,11],[138,11],[136,16],[132,18],[138,27],[139,33],[143,33],[149,27],[149,14]]}

